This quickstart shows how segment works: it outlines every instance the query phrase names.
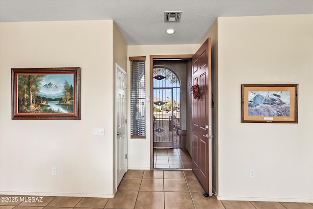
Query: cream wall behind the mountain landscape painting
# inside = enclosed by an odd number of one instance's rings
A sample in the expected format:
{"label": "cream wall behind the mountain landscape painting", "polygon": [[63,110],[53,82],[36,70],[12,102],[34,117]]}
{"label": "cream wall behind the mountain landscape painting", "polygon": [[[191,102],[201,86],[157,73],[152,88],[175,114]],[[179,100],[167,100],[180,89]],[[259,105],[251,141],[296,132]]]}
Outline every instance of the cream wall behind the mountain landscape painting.
{"label": "cream wall behind the mountain landscape painting", "polygon": [[[113,21],[0,23],[1,194],[113,196],[112,36]],[[81,67],[81,120],[11,120],[11,68],[42,67]]]}

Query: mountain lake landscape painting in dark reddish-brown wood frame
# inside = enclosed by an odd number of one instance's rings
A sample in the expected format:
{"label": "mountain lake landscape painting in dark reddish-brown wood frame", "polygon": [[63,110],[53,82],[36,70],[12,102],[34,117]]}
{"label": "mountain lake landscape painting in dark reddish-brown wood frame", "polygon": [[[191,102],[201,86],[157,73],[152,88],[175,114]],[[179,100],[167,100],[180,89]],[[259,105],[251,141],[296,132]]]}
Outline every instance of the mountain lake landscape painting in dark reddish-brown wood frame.
{"label": "mountain lake landscape painting in dark reddish-brown wood frame", "polygon": [[80,119],[80,68],[14,68],[11,83],[12,119]]}

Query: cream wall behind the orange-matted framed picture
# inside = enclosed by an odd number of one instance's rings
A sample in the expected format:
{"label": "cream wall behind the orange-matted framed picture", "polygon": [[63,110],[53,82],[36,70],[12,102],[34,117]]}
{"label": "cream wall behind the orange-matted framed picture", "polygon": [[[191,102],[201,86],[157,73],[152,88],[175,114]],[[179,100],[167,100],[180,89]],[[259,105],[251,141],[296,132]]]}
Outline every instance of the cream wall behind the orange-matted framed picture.
{"label": "cream wall behind the orange-matted framed picture", "polygon": [[[312,25],[313,15],[218,18],[218,199],[313,202]],[[299,84],[299,122],[241,123],[241,84]]]}

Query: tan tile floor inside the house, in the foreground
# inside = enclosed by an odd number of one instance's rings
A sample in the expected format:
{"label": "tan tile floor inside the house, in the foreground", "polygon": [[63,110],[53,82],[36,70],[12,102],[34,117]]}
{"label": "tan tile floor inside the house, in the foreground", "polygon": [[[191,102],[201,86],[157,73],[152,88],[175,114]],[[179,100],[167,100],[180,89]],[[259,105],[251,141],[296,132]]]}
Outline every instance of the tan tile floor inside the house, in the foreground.
{"label": "tan tile floor inside the house, in the foreground", "polygon": [[0,209],[313,209],[313,203],[219,201],[203,193],[190,170],[128,170],[114,198],[44,196],[43,202],[0,201]]}

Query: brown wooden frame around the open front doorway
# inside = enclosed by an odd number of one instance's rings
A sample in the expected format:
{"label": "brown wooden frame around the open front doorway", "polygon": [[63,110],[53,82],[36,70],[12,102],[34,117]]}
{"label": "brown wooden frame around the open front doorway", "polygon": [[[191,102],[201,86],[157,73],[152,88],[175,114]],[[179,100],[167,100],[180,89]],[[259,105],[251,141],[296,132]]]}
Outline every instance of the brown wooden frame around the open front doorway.
{"label": "brown wooden frame around the open front doorway", "polygon": [[153,59],[184,59],[192,58],[193,54],[174,54],[174,55],[150,55],[150,73],[149,73],[149,82],[150,82],[150,170],[153,170]]}

